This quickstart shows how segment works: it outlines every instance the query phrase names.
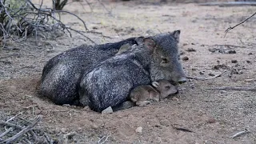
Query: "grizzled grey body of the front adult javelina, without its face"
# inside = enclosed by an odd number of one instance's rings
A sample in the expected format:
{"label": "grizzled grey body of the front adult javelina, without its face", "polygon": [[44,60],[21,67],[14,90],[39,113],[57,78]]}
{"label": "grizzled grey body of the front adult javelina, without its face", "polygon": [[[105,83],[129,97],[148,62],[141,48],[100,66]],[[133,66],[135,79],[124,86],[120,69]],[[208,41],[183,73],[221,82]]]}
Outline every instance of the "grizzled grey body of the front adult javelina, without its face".
{"label": "grizzled grey body of the front adult javelina, without its face", "polygon": [[126,102],[132,87],[149,84],[148,71],[154,48],[154,40],[144,38],[130,53],[109,58],[84,74],[79,90],[82,105],[101,112]]}

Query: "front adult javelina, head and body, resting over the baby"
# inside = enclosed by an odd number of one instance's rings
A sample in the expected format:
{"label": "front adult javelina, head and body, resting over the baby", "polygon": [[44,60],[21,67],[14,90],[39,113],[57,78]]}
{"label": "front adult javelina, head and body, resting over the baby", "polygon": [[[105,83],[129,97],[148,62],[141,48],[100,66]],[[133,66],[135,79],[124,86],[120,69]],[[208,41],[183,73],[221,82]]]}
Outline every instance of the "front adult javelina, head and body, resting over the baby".
{"label": "front adult javelina, head and body, resting over the baby", "polygon": [[131,88],[159,79],[186,82],[178,62],[180,30],[145,38],[130,53],[124,53],[95,66],[81,79],[80,102],[92,110],[118,106],[129,97]]}

